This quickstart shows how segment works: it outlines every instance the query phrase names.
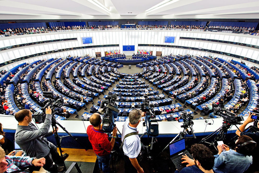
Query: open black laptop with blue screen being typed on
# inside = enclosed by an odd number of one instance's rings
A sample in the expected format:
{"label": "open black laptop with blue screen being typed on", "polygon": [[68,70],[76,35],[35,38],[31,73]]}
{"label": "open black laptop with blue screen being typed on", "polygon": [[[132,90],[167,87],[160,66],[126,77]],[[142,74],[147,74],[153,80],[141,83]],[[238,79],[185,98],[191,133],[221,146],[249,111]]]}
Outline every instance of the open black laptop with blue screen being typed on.
{"label": "open black laptop with blue screen being typed on", "polygon": [[175,164],[178,171],[181,171],[186,167],[187,163],[182,163],[182,155],[187,155],[189,158],[193,159],[190,153],[185,149],[185,139],[179,139],[169,144],[170,158]]}

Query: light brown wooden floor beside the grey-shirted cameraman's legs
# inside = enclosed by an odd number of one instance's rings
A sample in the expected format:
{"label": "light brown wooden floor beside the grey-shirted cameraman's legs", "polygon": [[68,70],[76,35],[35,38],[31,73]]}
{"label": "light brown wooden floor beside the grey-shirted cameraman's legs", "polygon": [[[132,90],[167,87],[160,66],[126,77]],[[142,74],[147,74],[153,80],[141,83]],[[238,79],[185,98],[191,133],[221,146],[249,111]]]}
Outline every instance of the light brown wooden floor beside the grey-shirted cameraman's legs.
{"label": "light brown wooden floor beside the grey-shirted cameraman's legs", "polygon": [[[96,155],[93,150],[87,150],[84,149],[73,149],[73,148],[61,148],[64,153],[67,153],[69,156],[66,158],[65,161],[72,161],[72,162],[93,162],[96,161]],[[60,154],[59,149],[57,149],[57,152]],[[46,173],[47,171],[40,168],[39,171],[33,171],[33,173]]]}

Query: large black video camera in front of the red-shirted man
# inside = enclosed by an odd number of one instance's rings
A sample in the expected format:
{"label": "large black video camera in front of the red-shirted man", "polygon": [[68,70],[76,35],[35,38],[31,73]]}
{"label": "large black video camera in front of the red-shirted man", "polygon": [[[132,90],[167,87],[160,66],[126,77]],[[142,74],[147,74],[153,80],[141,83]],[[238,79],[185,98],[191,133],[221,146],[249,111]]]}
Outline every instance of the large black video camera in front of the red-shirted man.
{"label": "large black video camera in front of the red-shirted man", "polygon": [[[101,102],[100,108],[103,108],[101,114],[103,114],[103,131],[111,133],[113,131],[114,118],[117,118],[119,110],[116,104],[117,95],[112,94],[107,96],[107,100]],[[105,106],[106,105],[106,106]]]}

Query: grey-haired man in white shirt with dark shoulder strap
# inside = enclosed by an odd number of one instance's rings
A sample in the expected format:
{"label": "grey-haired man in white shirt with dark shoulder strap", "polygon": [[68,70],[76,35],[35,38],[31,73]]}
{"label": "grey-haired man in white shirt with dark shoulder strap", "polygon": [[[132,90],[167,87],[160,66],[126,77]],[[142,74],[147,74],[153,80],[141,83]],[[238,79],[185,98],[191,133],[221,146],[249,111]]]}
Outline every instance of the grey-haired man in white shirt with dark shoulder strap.
{"label": "grey-haired man in white shirt with dark shoulder strap", "polygon": [[145,116],[145,113],[141,110],[131,110],[129,118],[125,121],[122,128],[122,154],[125,160],[125,172],[128,173],[144,172],[137,160],[137,156],[139,155],[141,150],[141,143],[138,135],[137,126],[139,125],[142,116]]}

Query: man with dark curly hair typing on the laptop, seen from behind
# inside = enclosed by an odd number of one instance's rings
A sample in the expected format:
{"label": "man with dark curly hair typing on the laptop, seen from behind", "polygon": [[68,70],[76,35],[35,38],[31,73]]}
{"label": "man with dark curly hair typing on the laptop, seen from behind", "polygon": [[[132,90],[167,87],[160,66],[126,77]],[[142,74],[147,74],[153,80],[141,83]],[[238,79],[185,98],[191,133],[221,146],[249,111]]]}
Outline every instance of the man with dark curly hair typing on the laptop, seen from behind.
{"label": "man with dark curly hair typing on the laptop, seen from behind", "polygon": [[[182,163],[188,163],[186,168],[183,168],[180,173],[222,173],[221,171],[213,170],[214,156],[210,149],[203,144],[193,144],[191,146],[193,160],[187,155],[184,155]],[[178,170],[175,171],[178,173]]]}

